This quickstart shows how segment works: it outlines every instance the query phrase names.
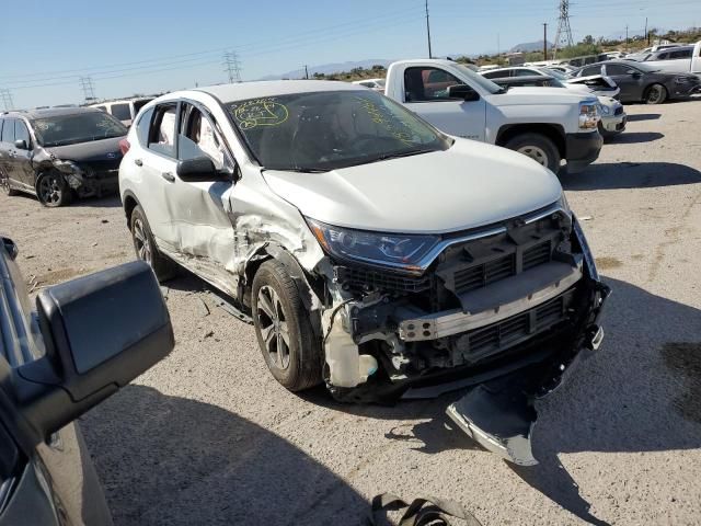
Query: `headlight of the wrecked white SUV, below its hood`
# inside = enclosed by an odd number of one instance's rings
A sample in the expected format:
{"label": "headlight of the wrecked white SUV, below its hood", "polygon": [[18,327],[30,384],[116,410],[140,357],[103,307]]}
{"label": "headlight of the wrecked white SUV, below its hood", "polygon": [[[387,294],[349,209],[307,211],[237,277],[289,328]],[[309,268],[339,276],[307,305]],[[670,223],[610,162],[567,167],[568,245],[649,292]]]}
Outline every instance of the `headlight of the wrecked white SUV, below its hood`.
{"label": "headlight of the wrecked white SUV, below its hood", "polygon": [[380,233],[309,218],[307,221],[319,243],[333,256],[412,273],[423,271],[422,261],[439,241],[437,236]]}

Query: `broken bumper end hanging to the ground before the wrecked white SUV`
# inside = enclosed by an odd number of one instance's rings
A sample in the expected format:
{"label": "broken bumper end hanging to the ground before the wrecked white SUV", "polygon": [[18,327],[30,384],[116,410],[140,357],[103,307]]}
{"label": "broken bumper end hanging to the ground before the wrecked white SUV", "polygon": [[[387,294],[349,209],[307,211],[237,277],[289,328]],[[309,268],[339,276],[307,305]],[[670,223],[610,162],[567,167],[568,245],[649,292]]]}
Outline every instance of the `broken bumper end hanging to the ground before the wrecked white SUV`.
{"label": "broken bumper end hanging to the ground before the wrecked white SUV", "polygon": [[538,464],[530,444],[537,414],[522,382],[483,384],[450,404],[446,413],[470,438],[504,460]]}

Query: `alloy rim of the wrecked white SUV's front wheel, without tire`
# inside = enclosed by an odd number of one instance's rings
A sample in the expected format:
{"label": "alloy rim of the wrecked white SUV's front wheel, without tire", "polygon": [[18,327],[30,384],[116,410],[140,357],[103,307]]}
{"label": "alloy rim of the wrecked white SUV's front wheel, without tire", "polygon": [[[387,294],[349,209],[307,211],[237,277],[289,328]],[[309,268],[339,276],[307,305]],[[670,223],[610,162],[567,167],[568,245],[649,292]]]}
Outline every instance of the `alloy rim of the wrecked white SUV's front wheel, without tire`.
{"label": "alloy rim of the wrecked white SUV's front wheel, without tire", "polygon": [[289,327],[280,298],[273,287],[265,285],[257,297],[258,328],[271,362],[279,369],[289,367]]}

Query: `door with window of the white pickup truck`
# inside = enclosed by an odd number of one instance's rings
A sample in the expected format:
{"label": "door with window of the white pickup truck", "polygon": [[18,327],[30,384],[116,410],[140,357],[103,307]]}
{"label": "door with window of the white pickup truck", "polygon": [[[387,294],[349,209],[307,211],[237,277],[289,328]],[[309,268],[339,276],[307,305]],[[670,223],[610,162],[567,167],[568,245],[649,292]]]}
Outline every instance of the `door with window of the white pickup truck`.
{"label": "door with window of the white pickup truck", "polygon": [[448,88],[464,84],[448,71],[436,67],[407,68],[404,71],[404,105],[446,134],[484,140],[486,103],[450,99]]}

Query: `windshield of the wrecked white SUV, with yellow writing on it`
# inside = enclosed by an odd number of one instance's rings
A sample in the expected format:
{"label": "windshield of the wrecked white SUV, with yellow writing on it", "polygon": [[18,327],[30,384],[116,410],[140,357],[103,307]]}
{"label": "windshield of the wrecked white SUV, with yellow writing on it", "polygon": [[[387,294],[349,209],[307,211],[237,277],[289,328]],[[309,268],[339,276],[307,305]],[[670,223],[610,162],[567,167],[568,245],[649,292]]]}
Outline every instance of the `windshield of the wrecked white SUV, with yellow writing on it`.
{"label": "windshield of the wrecked white SUV, with yellow writing on it", "polygon": [[225,104],[271,170],[326,171],[446,150],[450,140],[380,93],[322,91]]}

